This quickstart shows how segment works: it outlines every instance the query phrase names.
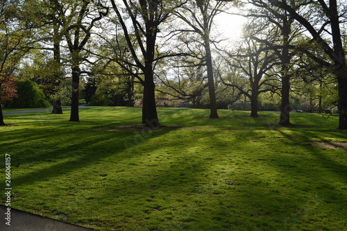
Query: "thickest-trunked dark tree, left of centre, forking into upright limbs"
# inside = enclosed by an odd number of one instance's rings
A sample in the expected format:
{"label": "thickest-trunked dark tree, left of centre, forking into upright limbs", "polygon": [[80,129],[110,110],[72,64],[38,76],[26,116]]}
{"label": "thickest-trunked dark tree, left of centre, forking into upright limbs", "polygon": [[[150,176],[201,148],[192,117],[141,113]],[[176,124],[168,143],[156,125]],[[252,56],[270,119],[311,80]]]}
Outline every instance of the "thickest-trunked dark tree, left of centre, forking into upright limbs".
{"label": "thickest-trunked dark tree, left of centre, forking into upright limbs", "polygon": [[154,71],[163,55],[158,51],[157,39],[160,25],[181,5],[180,1],[122,0],[120,4],[111,0],[111,3],[124,33],[126,49],[133,59],[128,64],[142,72],[136,74],[144,86],[142,123],[160,126],[155,107]]}

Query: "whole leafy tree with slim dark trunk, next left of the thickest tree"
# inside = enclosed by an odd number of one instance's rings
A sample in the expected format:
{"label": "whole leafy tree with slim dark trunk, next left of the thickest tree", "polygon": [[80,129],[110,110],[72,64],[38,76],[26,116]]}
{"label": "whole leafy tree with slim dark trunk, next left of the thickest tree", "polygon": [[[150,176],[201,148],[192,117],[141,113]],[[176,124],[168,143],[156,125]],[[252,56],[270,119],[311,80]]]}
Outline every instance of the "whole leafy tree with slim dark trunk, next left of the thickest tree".
{"label": "whole leafy tree with slim dark trunk, next left of the thickest tree", "polygon": [[[92,30],[99,20],[108,14],[108,8],[101,0],[51,0],[51,9],[58,19],[53,21],[54,55],[56,62],[59,62],[60,35],[65,37],[69,50],[69,65],[71,66],[71,114],[69,121],[79,121],[78,100],[80,77],[83,73],[82,63],[88,56],[85,51],[87,42],[90,41]],[[60,33],[58,32],[61,27]]]}

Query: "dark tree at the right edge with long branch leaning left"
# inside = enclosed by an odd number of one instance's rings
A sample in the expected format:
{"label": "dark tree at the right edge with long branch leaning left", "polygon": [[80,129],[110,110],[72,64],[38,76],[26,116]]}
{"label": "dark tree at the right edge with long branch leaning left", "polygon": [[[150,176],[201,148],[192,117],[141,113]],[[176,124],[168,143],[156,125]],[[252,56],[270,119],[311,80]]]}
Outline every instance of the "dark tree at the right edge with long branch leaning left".
{"label": "dark tree at the right edge with long branch leaning left", "polygon": [[[340,28],[341,19],[346,17],[346,9],[344,9],[346,4],[344,1],[337,0],[303,1],[301,8],[294,8],[285,0],[270,0],[270,2],[274,6],[286,10],[293,19],[303,25],[312,36],[310,42],[319,44],[319,49],[323,50],[330,58],[330,62],[327,62],[327,60],[317,57],[315,51],[307,50],[311,58],[330,69],[337,78],[339,85],[339,129],[346,130],[347,62]],[[302,13],[303,11],[307,12],[305,9],[318,13],[313,14],[313,17],[312,15],[307,17]],[[317,25],[317,21],[321,23]]]}

